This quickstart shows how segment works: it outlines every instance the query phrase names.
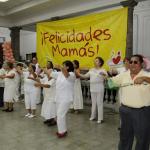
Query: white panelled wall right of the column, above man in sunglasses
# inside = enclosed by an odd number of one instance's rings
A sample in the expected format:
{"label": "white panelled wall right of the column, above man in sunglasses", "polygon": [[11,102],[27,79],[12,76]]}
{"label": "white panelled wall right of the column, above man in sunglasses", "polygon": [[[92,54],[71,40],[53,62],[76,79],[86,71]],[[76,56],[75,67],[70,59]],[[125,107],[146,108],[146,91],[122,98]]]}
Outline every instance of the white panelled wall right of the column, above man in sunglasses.
{"label": "white panelled wall right of the column, above man in sunglasses", "polygon": [[140,2],[134,11],[134,54],[150,57],[150,1]]}

